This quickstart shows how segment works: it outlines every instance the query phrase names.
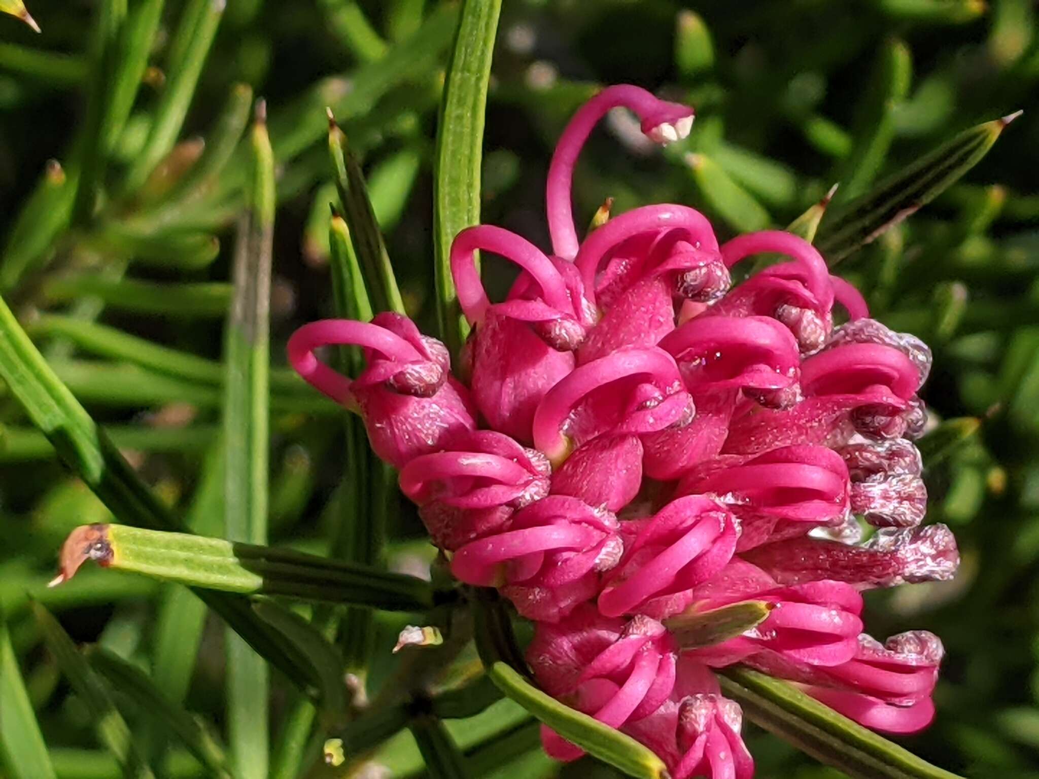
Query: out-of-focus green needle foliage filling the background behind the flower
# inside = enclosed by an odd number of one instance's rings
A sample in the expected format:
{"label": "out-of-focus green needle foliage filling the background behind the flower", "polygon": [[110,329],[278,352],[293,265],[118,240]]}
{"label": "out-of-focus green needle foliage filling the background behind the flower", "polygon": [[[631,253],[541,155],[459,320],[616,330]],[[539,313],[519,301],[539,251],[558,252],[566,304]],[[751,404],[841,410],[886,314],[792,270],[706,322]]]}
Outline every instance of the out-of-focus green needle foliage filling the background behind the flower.
{"label": "out-of-focus green needle foliage filling the background behind the flower", "polygon": [[[264,96],[277,199],[270,541],[359,562],[384,558],[391,569],[428,575],[432,553],[412,510],[388,478],[354,469],[377,467],[357,456],[357,431],[328,424],[339,411],[287,376],[282,354],[296,325],[341,310],[330,289],[349,284],[345,225],[339,242],[327,231],[341,182],[328,163],[326,106],[349,141],[349,164],[367,178],[385,236],[374,250],[393,259],[403,305],[433,331],[432,171],[457,4],[35,0],[30,11],[41,35],[0,17],[0,292],[57,375],[166,506],[198,532],[223,532],[221,321],[250,176],[248,142],[239,141],[252,96]],[[928,521],[956,531],[959,576],[873,593],[867,620],[878,637],[910,627],[942,637],[937,722],[903,743],[979,778],[1039,779],[1036,17],[1032,0],[508,0],[478,204],[483,221],[547,245],[542,197],[554,139],[596,85],[633,82],[692,102],[692,136],[660,154],[644,147],[631,117],[613,117],[579,165],[579,222],[608,196],[614,213],[678,202],[702,209],[728,236],[788,224],[840,183],[820,224],[825,248],[827,218],[876,181],[959,131],[1024,109],[963,180],[838,266],[875,316],[931,344],[924,397],[934,417],[981,420],[965,438],[952,436],[959,444],[942,459],[926,459]],[[485,272],[491,289],[507,287],[494,262]],[[123,776],[121,760],[137,759],[127,757],[126,727],[159,775],[206,775],[198,744],[205,759],[220,762],[209,729],[228,722],[218,623],[174,585],[114,572],[86,570],[46,589],[64,535],[109,515],[7,387],[0,462],[0,697],[35,709],[58,777]],[[381,537],[373,549],[370,539],[337,536],[357,506],[381,512],[384,545]],[[53,647],[68,646],[55,624],[33,619],[26,595],[77,642],[100,645],[101,666],[73,661],[81,683],[62,680],[68,652]],[[353,644],[341,642],[355,671],[354,704],[367,696],[384,711],[337,731],[354,752],[392,736],[373,759],[394,776],[423,771],[420,750],[443,757],[439,768],[431,763],[434,775],[614,775],[591,760],[553,763],[537,750],[533,721],[509,701],[448,719],[446,730],[428,711],[409,720],[395,684],[426,650],[390,653],[409,615],[354,611],[344,623],[362,626],[364,645],[355,629],[346,632]],[[316,608],[311,616],[336,633],[339,615]],[[368,664],[357,662],[369,653]],[[23,686],[11,682],[15,664]],[[467,679],[476,664],[462,651],[432,689]],[[106,668],[121,678],[149,671],[160,694],[207,724],[196,731],[182,723],[194,740],[185,743],[131,695],[108,702],[105,711],[115,705],[122,717],[99,722],[98,702],[83,690],[105,683]],[[324,769],[311,767],[331,731],[284,676],[270,683],[272,775],[319,775]],[[764,779],[840,776],[753,727],[748,733]],[[452,738],[462,763],[444,756]],[[37,743],[31,734],[20,742],[30,752]],[[22,779],[27,764],[0,768],[0,776]]]}

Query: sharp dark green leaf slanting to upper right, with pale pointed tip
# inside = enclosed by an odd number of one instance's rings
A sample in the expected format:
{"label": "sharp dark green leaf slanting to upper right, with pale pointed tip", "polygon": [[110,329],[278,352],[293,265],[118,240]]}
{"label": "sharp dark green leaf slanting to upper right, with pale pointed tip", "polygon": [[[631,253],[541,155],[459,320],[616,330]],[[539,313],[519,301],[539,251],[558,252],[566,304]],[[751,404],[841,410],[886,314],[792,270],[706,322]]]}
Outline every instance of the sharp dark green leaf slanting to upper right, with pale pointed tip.
{"label": "sharp dark green leaf slanting to upper right, with pale pointed tip", "polygon": [[974,167],[1017,114],[966,130],[833,214],[817,245],[835,265],[914,214]]}

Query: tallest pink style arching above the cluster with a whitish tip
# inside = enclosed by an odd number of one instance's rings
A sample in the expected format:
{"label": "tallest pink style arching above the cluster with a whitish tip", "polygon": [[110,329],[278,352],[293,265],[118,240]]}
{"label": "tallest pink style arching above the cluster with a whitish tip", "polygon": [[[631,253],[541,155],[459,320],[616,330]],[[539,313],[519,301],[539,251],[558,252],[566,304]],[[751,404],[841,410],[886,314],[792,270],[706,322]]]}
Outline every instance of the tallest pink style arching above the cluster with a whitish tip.
{"label": "tallest pink style arching above the cluster with a whitish tip", "polygon": [[632,110],[642,123],[642,132],[658,143],[685,138],[693,124],[692,108],[630,84],[607,87],[574,114],[552,155],[544,197],[552,250],[561,258],[572,260],[579,247],[570,202],[574,166],[598,120],[619,106]]}

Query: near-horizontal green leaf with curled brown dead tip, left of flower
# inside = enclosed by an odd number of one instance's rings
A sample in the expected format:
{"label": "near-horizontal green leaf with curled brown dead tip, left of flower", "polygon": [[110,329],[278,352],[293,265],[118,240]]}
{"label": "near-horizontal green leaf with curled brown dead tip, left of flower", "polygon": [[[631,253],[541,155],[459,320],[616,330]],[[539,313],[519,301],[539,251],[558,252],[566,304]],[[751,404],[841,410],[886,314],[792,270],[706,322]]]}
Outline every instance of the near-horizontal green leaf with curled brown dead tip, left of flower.
{"label": "near-horizontal green leaf with curled brown dead tip, left of flower", "polygon": [[292,549],[233,543],[185,533],[123,525],[85,525],[61,550],[56,583],[69,581],[87,560],[193,587],[250,595],[353,603],[391,611],[433,606],[428,582]]}

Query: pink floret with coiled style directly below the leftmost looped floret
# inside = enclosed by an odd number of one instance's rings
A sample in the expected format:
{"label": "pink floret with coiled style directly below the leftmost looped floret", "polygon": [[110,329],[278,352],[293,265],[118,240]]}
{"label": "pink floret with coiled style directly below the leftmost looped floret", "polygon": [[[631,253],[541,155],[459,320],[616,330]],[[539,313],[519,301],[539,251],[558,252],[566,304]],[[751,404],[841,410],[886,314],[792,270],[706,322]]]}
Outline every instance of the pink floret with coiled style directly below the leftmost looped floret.
{"label": "pink floret with coiled style directly below the leftmost looped floret", "polygon": [[478,430],[422,455],[400,472],[400,488],[419,506],[433,543],[454,550],[500,531],[517,508],[549,493],[544,455],[507,435]]}

